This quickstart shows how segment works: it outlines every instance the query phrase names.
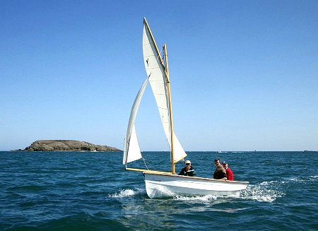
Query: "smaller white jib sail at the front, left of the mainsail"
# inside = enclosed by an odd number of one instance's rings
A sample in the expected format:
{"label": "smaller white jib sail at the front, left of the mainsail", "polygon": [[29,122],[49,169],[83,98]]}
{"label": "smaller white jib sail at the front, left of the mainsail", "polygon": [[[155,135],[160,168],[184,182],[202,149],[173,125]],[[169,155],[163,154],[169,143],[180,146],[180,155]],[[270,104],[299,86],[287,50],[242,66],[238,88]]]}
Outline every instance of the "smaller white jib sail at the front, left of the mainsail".
{"label": "smaller white jib sail at the front, left of the mainsail", "polygon": [[129,123],[126,131],[126,138],[124,141],[124,156],[122,160],[122,163],[124,165],[126,165],[128,162],[132,162],[134,160],[139,160],[140,158],[142,158],[135,129],[135,120],[141,102],[141,98],[143,97],[143,93],[146,90],[147,84],[148,78],[146,79],[146,81],[143,82],[143,85],[141,85],[141,88],[138,94],[136,95],[134,104],[131,107]]}

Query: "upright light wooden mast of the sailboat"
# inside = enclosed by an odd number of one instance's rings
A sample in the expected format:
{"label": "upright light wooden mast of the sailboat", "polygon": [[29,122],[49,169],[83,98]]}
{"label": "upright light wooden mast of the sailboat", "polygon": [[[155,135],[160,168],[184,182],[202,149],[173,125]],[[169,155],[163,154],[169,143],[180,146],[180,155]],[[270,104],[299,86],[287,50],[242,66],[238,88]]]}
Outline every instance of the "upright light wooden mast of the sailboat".
{"label": "upright light wooden mast of the sailboat", "polygon": [[173,118],[172,118],[172,100],[170,91],[169,66],[167,61],[167,46],[163,45],[163,54],[165,57],[165,73],[167,77],[167,96],[169,100],[169,114],[170,114],[170,144],[171,144],[171,172],[175,174],[175,148],[173,144]]}

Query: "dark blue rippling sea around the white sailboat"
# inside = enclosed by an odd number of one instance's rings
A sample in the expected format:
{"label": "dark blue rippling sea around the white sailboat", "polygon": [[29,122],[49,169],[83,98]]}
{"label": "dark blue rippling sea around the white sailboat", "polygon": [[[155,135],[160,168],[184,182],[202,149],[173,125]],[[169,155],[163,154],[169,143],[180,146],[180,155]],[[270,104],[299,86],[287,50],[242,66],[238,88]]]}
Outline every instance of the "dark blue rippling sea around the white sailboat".
{"label": "dark blue rippling sea around the white sailboat", "polygon": [[[225,160],[247,189],[149,199],[122,152],[0,152],[0,230],[318,230],[317,152],[187,154],[199,177]],[[143,158],[170,168],[167,152]]]}

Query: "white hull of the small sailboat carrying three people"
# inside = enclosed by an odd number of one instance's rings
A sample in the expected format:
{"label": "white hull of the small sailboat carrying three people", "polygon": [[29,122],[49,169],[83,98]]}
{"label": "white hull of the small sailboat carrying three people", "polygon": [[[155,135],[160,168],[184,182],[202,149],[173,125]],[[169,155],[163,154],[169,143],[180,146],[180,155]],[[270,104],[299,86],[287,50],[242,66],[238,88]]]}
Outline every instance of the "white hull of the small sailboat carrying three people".
{"label": "white hull of the small sailboat carrying three people", "polygon": [[201,177],[143,172],[151,199],[171,196],[229,195],[246,189],[248,182],[223,181]]}

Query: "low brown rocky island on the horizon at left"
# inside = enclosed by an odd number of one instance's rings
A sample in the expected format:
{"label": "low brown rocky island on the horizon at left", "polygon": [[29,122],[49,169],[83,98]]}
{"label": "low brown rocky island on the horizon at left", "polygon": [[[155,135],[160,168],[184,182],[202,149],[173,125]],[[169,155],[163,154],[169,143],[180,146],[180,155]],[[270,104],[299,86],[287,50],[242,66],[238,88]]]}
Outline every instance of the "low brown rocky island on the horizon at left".
{"label": "low brown rocky island on the horizon at left", "polygon": [[85,141],[39,140],[31,143],[24,151],[120,151],[110,146],[100,146]]}

